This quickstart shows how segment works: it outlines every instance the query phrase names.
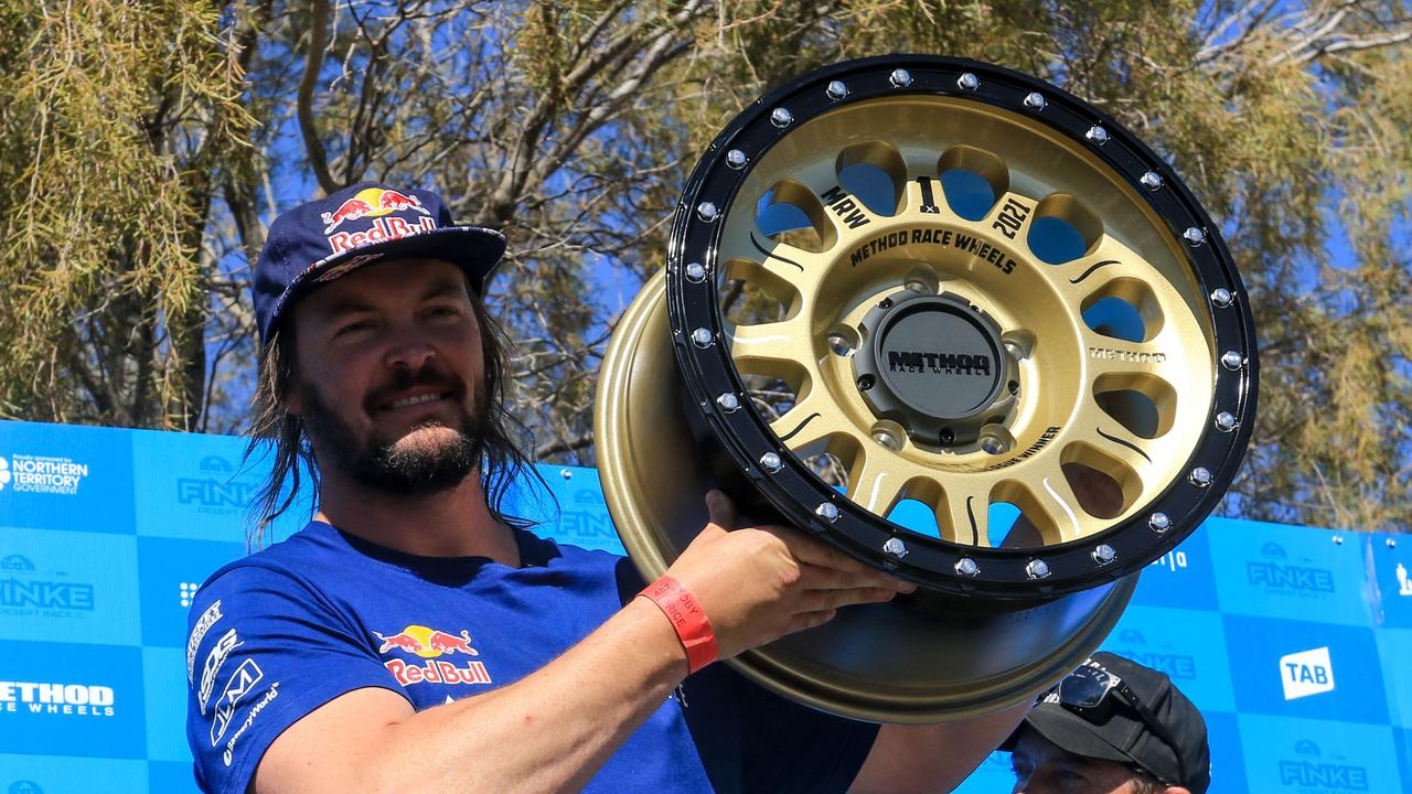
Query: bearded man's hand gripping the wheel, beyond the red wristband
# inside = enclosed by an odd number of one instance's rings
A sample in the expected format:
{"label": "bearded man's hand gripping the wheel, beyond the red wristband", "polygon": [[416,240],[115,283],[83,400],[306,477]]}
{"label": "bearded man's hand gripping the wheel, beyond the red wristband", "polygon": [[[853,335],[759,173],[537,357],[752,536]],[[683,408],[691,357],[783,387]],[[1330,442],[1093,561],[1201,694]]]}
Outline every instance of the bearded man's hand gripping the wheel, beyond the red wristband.
{"label": "bearded man's hand gripping the wheel, beyond the red wristband", "polygon": [[736,528],[736,509],[706,494],[710,523],[668,568],[706,612],[720,658],[827,623],[840,606],[916,589],[795,530]]}

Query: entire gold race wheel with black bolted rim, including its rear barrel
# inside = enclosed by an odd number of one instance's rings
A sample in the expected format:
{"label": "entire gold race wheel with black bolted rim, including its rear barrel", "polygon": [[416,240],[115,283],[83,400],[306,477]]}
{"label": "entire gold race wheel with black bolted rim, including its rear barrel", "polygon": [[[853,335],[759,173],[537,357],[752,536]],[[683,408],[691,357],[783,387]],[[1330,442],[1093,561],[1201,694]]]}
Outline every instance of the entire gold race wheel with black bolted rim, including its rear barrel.
{"label": "entire gold race wheel with black bolted rim, including its rear barrel", "polygon": [[806,75],[717,137],[594,427],[647,579],[720,485],[921,585],[731,660],[908,723],[1022,702],[1091,653],[1128,574],[1214,507],[1254,410],[1240,277],[1175,174],[1053,86],[908,55]]}

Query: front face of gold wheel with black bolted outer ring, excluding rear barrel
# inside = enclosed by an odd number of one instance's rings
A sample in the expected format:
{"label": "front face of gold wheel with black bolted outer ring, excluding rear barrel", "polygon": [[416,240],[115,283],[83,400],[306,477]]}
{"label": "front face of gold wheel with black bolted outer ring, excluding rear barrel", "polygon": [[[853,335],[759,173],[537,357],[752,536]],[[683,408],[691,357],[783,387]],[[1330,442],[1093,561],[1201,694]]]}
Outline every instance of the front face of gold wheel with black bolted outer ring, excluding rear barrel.
{"label": "front face of gold wheel with black bolted outer ring, excluding rear barrel", "polygon": [[668,300],[693,421],[768,502],[949,592],[1139,569],[1251,425],[1252,324],[1200,206],[1096,109],[974,62],[844,64],[743,113]]}

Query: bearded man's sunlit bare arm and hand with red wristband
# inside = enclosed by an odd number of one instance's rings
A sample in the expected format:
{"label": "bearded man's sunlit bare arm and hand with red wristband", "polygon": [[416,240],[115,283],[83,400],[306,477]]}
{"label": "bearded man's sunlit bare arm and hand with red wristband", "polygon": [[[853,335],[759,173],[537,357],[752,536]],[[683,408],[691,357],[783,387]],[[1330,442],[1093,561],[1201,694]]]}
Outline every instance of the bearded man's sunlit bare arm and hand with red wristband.
{"label": "bearded man's sunlit bare arm and hand with red wristband", "polygon": [[[727,531],[719,493],[712,523],[668,575],[712,622],[722,658],[825,623],[839,606],[909,589],[840,552],[775,527]],[[424,712],[388,689],[363,688],[309,712],[265,752],[253,787],[268,793],[582,788],[686,677],[686,654],[657,605],[634,599],[539,671]]]}

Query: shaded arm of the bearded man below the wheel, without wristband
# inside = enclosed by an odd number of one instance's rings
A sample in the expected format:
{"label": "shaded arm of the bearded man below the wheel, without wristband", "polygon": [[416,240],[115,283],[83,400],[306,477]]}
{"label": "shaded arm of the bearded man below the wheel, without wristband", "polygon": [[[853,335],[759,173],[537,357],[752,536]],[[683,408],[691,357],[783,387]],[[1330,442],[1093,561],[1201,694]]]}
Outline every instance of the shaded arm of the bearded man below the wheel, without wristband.
{"label": "shaded arm of the bearded man below the wheel, without wristband", "polygon": [[950,791],[1014,732],[1029,706],[1027,701],[940,725],[884,725],[849,794]]}

